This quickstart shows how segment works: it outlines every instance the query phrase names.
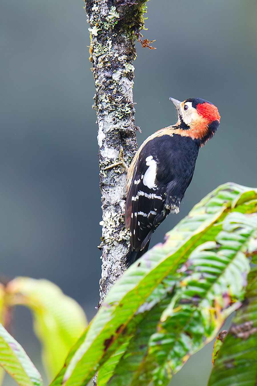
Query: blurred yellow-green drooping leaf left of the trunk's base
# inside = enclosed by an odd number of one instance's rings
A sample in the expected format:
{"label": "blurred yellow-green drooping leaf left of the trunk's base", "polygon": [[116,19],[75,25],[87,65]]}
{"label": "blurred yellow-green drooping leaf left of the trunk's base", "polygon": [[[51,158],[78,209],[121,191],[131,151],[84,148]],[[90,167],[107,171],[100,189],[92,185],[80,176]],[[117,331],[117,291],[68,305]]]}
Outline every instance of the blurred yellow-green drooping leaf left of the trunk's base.
{"label": "blurred yellow-green drooping leaf left of the trunk's base", "polygon": [[30,308],[34,332],[42,344],[42,361],[50,379],[56,376],[64,360],[85,330],[85,313],[75,300],[44,279],[15,278],[8,283],[12,304]]}

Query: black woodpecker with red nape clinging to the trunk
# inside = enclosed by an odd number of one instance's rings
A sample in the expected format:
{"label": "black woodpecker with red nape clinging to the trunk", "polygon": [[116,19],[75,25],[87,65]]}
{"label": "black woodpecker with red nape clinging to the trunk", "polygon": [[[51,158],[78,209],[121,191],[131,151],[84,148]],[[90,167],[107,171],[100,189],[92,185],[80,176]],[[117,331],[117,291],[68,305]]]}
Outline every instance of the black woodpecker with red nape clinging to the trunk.
{"label": "black woodpecker with red nape clinging to the trunk", "polygon": [[220,124],[217,107],[204,99],[190,98],[184,102],[169,99],[178,110],[178,122],[150,135],[128,168],[127,266],[148,250],[152,234],[167,215],[179,213],[180,202],[193,177],[198,151]]}

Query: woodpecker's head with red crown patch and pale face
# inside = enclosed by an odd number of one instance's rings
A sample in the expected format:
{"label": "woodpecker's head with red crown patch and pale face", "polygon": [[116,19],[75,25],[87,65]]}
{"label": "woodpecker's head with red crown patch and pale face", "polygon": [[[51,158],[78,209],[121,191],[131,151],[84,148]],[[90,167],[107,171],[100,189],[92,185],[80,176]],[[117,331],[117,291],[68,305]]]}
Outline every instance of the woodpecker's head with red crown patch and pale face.
{"label": "woodpecker's head with red crown patch and pale face", "polygon": [[220,114],[216,106],[200,98],[190,98],[184,102],[169,99],[178,110],[178,122],[174,126],[174,129],[179,130],[178,134],[191,137],[200,146],[213,137],[220,125]]}

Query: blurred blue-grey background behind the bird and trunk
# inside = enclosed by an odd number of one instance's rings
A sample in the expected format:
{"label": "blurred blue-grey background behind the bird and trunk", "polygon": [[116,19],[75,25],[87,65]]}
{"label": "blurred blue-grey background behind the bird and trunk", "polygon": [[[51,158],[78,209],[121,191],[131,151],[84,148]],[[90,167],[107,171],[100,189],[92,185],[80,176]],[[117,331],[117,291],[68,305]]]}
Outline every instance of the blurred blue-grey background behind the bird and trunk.
{"label": "blurred blue-grey background behind the bird and trunk", "polygon": [[[72,296],[88,319],[101,275],[95,93],[82,0],[0,3],[0,272],[46,278]],[[151,245],[203,196],[227,181],[257,186],[257,2],[152,0],[134,62],[138,143],[176,123],[169,97],[199,97],[221,115],[200,149],[179,215],[170,215]],[[36,366],[40,347],[31,316],[19,306],[14,337]],[[206,386],[212,344],[191,357],[172,386]],[[6,377],[5,386],[15,384]]]}

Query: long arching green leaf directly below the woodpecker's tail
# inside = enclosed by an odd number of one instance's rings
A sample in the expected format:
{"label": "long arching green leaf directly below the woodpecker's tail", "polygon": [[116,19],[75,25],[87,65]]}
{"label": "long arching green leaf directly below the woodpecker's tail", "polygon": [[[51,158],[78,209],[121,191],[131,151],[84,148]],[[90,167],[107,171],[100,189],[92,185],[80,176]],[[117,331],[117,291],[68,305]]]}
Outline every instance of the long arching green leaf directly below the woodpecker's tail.
{"label": "long arching green leaf directly below the woodpecker's tail", "polygon": [[[62,370],[52,384],[86,384],[127,340],[126,334],[134,334],[135,327],[128,332],[126,328],[147,297],[166,276],[176,273],[178,266],[198,245],[215,240],[221,230],[221,220],[231,210],[232,201],[236,208],[238,198],[249,190],[233,183],[220,186],[167,234],[164,244],[156,245],[133,264],[108,293],[79,349],[66,360],[64,376]],[[257,192],[254,192],[257,198]],[[249,212],[254,209],[254,206],[247,207]]]}

